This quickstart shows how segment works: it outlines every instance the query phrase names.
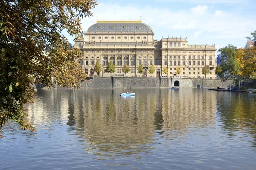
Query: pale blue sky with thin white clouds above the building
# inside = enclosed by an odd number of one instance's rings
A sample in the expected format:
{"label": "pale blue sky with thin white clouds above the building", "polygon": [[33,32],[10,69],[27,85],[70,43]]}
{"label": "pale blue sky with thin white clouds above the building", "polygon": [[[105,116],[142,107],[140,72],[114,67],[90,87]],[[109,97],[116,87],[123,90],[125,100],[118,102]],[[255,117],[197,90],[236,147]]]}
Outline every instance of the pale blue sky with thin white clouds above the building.
{"label": "pale blue sky with thin white clouds above the building", "polygon": [[[256,0],[97,0],[93,17],[82,21],[83,31],[96,19],[142,19],[154,39],[188,38],[189,44],[233,44],[244,47],[256,30]],[[73,37],[64,33],[73,43]]]}

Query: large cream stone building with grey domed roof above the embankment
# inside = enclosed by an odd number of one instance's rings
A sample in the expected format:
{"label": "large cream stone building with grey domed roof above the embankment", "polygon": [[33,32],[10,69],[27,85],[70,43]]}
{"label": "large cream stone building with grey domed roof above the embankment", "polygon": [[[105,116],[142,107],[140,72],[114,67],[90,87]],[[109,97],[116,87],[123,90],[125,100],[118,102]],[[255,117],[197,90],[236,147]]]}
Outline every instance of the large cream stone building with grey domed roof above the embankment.
{"label": "large cream stone building with grey domed roof above the embankment", "polygon": [[[206,78],[215,78],[215,45],[188,44],[187,38],[168,37],[154,40],[154,32],[141,20],[97,20],[96,24],[84,32],[84,40],[76,41],[75,48],[84,53],[80,61],[85,72],[96,75],[94,66],[99,61],[102,72],[99,76],[110,76],[105,73],[110,61],[115,65],[115,76],[124,76],[122,66],[126,63],[131,71],[127,77],[140,77],[138,66],[143,66],[143,76],[169,78],[204,78],[202,68],[210,68]],[[156,70],[149,74],[149,67]],[[167,74],[163,73],[166,67]],[[177,74],[177,68],[180,74]]]}

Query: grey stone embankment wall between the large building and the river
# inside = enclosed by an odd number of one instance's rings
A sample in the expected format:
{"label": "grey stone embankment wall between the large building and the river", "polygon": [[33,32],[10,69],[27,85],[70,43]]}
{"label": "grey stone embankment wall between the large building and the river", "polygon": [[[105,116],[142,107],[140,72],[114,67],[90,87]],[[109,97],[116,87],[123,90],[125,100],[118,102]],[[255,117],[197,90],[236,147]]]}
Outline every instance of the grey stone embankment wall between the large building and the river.
{"label": "grey stone embankment wall between the large building and the river", "polygon": [[233,80],[221,82],[220,79],[184,79],[184,78],[124,78],[124,77],[94,77],[81,82],[81,88],[168,88],[179,82],[180,88],[227,87],[233,86]]}

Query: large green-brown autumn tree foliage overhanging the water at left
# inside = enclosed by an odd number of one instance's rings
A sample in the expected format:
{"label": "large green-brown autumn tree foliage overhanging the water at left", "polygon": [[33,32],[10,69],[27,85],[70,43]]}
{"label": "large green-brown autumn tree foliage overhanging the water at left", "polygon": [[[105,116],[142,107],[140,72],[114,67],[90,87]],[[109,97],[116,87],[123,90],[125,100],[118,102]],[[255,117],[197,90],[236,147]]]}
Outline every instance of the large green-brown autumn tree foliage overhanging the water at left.
{"label": "large green-brown autumn tree foliage overhanging the water at left", "polygon": [[81,52],[70,49],[61,31],[81,39],[81,18],[91,16],[95,5],[96,0],[0,1],[0,129],[13,119],[33,131],[23,109],[34,100],[32,84],[73,88],[86,78]]}

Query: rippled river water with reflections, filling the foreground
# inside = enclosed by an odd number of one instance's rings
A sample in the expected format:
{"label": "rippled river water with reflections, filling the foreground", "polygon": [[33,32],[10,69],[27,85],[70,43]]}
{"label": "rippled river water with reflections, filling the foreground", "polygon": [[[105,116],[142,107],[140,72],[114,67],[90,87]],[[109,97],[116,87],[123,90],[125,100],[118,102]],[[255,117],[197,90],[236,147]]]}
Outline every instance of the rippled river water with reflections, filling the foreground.
{"label": "rippled river water with reflections, filling the foreground", "polygon": [[121,91],[38,90],[26,105],[36,131],[3,128],[0,169],[256,169],[255,94]]}

